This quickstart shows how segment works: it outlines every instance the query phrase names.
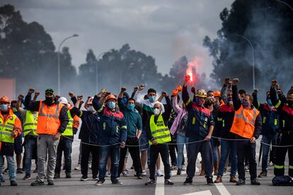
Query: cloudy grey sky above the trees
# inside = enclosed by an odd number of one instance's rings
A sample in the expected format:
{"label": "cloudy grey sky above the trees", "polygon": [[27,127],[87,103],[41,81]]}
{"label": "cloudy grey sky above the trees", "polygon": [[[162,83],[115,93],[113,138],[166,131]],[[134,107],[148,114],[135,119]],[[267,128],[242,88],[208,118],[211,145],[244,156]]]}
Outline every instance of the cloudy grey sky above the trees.
{"label": "cloudy grey sky above the trees", "polygon": [[202,46],[205,35],[216,37],[222,26],[219,13],[233,0],[1,0],[21,11],[25,22],[44,26],[57,48],[64,38],[72,64],[86,61],[88,49],[98,55],[132,49],[156,59],[158,71],[168,73],[176,59],[201,59],[198,72],[212,71],[212,58]]}

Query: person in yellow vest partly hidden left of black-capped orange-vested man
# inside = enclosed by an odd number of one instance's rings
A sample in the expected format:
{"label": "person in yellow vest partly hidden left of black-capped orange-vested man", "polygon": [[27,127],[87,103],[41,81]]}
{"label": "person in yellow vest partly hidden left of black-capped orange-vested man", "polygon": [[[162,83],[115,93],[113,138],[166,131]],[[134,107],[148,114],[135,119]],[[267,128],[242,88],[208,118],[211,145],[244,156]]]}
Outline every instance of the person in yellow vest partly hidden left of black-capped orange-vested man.
{"label": "person in yellow vest partly hidden left of black-capped orange-vested man", "polygon": [[38,124],[38,112],[31,112],[24,110],[21,107],[21,102],[24,96],[18,95],[18,101],[16,103],[16,110],[18,114],[21,114],[23,119],[23,134],[25,136],[25,177],[23,180],[31,179],[31,166],[33,154],[37,150],[37,124]]}

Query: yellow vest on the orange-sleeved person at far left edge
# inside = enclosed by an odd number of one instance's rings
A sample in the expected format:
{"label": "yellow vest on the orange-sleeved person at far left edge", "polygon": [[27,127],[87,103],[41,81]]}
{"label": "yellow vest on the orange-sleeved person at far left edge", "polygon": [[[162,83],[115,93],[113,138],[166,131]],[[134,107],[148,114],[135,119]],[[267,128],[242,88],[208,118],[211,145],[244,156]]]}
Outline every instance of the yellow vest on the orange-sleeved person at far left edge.
{"label": "yellow vest on the orange-sleeved person at far left edge", "polygon": [[[12,119],[11,119],[12,117]],[[8,116],[8,119],[4,123],[3,119],[0,117],[0,141],[14,143],[14,138],[11,133],[14,129],[14,123],[16,122],[16,115]]]}

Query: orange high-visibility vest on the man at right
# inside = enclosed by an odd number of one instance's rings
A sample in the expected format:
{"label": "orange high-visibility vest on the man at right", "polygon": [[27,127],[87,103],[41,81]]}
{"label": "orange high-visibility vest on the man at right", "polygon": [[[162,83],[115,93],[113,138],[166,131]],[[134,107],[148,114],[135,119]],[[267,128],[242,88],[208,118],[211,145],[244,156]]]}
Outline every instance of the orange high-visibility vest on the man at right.
{"label": "orange high-visibility vest on the man at right", "polygon": [[258,114],[260,114],[260,112],[255,108],[244,109],[241,105],[239,110],[235,111],[234,121],[230,132],[243,138],[252,138],[255,129],[255,119]]}

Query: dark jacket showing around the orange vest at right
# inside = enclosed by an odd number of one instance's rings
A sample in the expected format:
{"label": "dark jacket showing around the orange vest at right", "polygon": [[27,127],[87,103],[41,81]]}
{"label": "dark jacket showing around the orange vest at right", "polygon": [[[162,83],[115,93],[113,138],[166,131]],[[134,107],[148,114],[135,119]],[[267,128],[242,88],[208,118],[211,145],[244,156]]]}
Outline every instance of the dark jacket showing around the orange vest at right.
{"label": "dark jacket showing around the orange vest at right", "polygon": [[[232,86],[232,100],[233,100],[233,105],[234,105],[234,110],[237,111],[240,109],[242,102],[239,98],[238,94],[238,88],[237,85]],[[253,105],[251,105],[251,108],[253,108]],[[257,139],[260,136],[260,132],[262,129],[262,121],[261,121],[261,115],[258,114],[258,116],[255,119],[255,124],[254,124],[254,133],[253,136]],[[242,138],[240,136],[237,136],[237,138]]]}

